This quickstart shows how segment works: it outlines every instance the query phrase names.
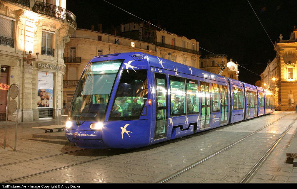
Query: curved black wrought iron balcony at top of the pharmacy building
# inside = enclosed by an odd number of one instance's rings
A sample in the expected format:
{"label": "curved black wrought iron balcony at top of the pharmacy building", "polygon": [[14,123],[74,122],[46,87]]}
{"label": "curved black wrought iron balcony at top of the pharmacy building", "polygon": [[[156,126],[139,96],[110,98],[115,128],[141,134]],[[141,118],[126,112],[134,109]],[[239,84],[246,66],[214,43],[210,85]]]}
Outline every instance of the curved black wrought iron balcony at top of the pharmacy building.
{"label": "curved black wrought iron balcony at top of the pharmacy building", "polygon": [[77,27],[75,22],[76,16],[62,7],[58,7],[56,5],[52,5],[49,3],[44,3],[41,1],[35,1],[34,6],[32,7],[33,12],[37,12],[39,14],[48,15],[51,17],[55,17],[61,20],[66,20]]}

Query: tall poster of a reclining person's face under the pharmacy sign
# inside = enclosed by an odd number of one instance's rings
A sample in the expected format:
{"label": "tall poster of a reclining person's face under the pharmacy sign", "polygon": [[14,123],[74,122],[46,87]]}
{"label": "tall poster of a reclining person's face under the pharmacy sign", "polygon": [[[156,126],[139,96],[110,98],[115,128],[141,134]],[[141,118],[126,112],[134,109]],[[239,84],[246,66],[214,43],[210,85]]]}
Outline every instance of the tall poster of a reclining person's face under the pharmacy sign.
{"label": "tall poster of a reclining person's face under the pharmacy sign", "polygon": [[53,107],[54,73],[38,72],[37,107]]}

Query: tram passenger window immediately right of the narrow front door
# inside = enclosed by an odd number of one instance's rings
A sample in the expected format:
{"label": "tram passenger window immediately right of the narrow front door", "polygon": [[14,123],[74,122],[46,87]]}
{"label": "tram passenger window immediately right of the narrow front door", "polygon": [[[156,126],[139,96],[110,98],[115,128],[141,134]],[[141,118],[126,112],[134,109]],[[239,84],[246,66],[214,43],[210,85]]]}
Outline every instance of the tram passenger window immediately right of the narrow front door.
{"label": "tram passenger window immediately right of the narrow front door", "polygon": [[170,115],[177,116],[186,113],[185,79],[169,76],[170,81]]}

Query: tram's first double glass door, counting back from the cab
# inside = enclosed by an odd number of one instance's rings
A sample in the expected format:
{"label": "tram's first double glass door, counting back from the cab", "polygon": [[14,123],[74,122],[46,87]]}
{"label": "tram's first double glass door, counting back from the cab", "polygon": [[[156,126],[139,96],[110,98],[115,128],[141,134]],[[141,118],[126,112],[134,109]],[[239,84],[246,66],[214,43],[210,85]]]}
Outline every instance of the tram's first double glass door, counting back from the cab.
{"label": "tram's first double glass door, counting back from the cab", "polygon": [[200,95],[201,95],[201,120],[199,129],[206,129],[210,127],[210,95],[209,83],[200,81]]}

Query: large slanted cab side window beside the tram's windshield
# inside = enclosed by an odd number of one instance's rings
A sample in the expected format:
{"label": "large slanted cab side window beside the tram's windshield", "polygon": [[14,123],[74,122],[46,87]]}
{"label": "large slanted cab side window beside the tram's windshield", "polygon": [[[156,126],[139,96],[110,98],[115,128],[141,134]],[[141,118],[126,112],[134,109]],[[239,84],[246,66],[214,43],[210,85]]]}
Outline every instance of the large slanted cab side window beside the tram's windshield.
{"label": "large slanted cab side window beside the tram's windshield", "polygon": [[138,119],[148,97],[146,71],[124,70],[116,92],[109,120]]}

